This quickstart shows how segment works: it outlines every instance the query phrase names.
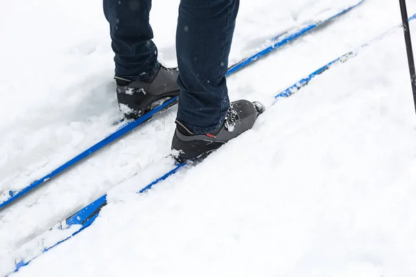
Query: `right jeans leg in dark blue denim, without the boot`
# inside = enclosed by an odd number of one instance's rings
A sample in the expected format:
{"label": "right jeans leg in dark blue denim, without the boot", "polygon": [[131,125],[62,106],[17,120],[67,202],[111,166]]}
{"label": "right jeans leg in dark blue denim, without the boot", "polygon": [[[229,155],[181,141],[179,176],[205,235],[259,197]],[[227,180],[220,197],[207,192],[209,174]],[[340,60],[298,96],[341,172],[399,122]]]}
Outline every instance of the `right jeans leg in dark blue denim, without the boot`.
{"label": "right jeans leg in dark blue denim, without the boot", "polygon": [[176,48],[181,92],[177,120],[205,134],[229,108],[225,74],[239,0],[182,0]]}

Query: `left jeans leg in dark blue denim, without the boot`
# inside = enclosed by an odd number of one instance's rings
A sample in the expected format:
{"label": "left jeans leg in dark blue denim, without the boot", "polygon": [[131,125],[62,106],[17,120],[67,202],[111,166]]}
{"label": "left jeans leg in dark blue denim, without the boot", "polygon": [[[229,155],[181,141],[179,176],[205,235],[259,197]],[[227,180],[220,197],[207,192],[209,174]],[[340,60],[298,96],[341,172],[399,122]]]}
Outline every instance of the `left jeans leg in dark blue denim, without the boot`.
{"label": "left jeans leg in dark blue denim, without the boot", "polygon": [[103,0],[118,77],[146,81],[159,69],[157,48],[151,40],[151,6],[151,0]]}

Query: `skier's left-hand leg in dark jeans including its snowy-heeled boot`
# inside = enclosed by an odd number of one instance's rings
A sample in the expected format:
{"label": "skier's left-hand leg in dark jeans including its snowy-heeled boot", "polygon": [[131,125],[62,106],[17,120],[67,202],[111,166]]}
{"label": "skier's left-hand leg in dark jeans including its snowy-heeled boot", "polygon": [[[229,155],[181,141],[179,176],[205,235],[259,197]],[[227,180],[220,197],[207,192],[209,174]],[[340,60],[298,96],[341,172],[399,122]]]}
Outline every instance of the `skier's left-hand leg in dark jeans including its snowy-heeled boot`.
{"label": "skier's left-hand leg in dark jeans including its snowy-heeled boot", "polygon": [[178,73],[157,62],[149,24],[151,0],[103,0],[103,6],[115,53],[119,107],[128,118],[138,118],[155,101],[179,95]]}

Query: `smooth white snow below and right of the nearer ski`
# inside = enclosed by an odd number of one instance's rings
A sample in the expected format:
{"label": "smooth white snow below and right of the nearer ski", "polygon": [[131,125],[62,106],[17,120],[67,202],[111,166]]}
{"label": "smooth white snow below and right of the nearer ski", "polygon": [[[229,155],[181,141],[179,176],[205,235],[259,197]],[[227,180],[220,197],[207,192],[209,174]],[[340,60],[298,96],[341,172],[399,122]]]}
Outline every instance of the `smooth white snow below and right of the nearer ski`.
{"label": "smooth white snow below and right of the nearer ski", "polygon": [[416,118],[402,37],[312,80],[151,193],[114,191],[94,225],[16,276],[414,276]]}

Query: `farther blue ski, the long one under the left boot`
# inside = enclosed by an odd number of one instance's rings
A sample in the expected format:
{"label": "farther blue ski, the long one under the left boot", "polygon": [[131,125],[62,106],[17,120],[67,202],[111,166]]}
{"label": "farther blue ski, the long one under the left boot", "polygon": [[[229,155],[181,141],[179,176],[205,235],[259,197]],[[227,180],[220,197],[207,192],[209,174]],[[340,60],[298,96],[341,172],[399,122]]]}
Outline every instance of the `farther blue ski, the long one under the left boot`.
{"label": "farther blue ski, the long one under the left boot", "polygon": [[[280,48],[281,46],[284,46],[290,42],[293,42],[298,37],[301,37],[302,35],[311,32],[311,30],[315,30],[316,28],[323,26],[324,24],[327,24],[332,19],[335,19],[337,17],[340,17],[341,15],[344,15],[346,12],[349,12],[349,10],[352,10],[353,8],[356,8],[357,6],[361,5],[365,0],[361,0],[358,3],[356,3],[354,6],[348,6],[346,8],[343,8],[340,12],[336,12],[334,15],[331,15],[327,17],[324,20],[320,21],[311,21],[307,24],[304,24],[304,26],[300,26],[296,28],[295,30],[288,31],[287,33],[284,33],[283,35],[279,35],[277,37],[274,37],[271,39],[270,43],[271,45],[268,46],[268,48],[263,49],[262,51],[259,51],[258,53],[252,55],[251,57],[246,58],[245,60],[235,64],[234,66],[231,66],[229,68],[229,71],[227,72],[227,75],[230,75],[232,73],[235,73],[236,71],[239,71],[246,66],[252,64],[253,62],[256,62],[259,60],[259,58],[264,57],[268,53],[275,51],[277,48]],[[171,98],[170,100],[164,102],[159,107],[156,107],[155,109],[152,109],[148,113],[146,113],[144,116],[141,116],[135,121],[126,123],[120,129],[118,129],[113,134],[110,134],[110,136],[107,136],[102,141],[96,143],[91,148],[85,150],[84,152],[78,154],[78,156],[74,157],[73,159],[67,161],[62,166],[56,168],[52,172],[50,172],[48,175],[37,179],[36,181],[33,181],[32,184],[26,186],[25,188],[21,190],[8,190],[6,191],[6,196],[0,195],[2,198],[6,198],[6,200],[3,200],[3,202],[0,203],[0,210],[1,208],[4,208],[11,204],[12,202],[15,202],[17,199],[23,197],[27,193],[31,192],[31,190],[34,190],[35,188],[41,186],[46,181],[49,181],[53,179],[53,177],[56,177],[60,173],[64,172],[68,168],[71,168],[71,166],[74,166],[76,163],[83,161],[85,158],[89,157],[89,155],[93,154],[94,152],[97,152],[98,150],[101,150],[101,148],[104,148],[106,145],[112,143],[113,141],[116,141],[121,136],[124,136],[128,132],[132,131],[132,129],[135,129],[139,125],[146,123],[151,118],[157,116],[162,111],[165,111],[169,107],[172,107],[177,102],[177,98]]]}

